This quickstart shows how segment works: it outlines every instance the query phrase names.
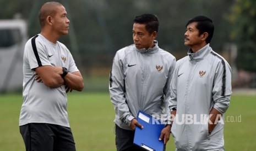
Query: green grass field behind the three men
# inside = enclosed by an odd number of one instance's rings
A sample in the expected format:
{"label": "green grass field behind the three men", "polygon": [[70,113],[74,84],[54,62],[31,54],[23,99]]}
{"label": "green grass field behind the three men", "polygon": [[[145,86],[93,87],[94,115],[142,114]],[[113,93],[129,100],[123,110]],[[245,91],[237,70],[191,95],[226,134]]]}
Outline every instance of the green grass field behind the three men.
{"label": "green grass field behind the three men", "polygon": [[[70,126],[77,150],[116,150],[113,119],[115,112],[108,92],[68,94]],[[0,95],[0,151],[25,150],[19,133],[21,94]],[[225,150],[254,150],[256,95],[231,97],[225,114]],[[241,120],[241,121],[240,121]],[[174,150],[173,138],[166,150]]]}

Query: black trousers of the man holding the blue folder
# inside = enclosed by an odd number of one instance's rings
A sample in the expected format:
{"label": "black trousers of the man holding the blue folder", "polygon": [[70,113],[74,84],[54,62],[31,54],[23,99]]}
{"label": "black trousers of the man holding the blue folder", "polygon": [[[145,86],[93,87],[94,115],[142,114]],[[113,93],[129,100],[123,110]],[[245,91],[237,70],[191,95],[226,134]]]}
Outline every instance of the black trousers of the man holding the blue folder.
{"label": "black trousers of the man holding the blue folder", "polygon": [[133,144],[134,131],[124,130],[115,125],[117,151],[145,151]]}

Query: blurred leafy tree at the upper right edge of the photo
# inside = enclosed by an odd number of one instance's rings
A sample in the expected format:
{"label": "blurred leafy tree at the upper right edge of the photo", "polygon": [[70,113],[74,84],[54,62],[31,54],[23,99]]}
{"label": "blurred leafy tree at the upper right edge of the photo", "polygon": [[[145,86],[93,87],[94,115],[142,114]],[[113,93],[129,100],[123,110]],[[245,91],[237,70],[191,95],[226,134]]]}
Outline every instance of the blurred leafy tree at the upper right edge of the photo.
{"label": "blurred leafy tree at the upper right edge of the photo", "polygon": [[256,71],[256,1],[237,0],[230,15],[231,39],[237,43],[237,67]]}

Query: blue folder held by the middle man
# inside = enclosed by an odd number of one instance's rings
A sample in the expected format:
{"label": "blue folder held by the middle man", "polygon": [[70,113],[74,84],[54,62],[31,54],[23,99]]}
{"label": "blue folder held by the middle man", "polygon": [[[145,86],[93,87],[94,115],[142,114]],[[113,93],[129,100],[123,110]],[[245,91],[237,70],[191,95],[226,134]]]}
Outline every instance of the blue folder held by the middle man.
{"label": "blue folder held by the middle man", "polygon": [[150,151],[164,150],[164,140],[159,141],[159,137],[165,124],[142,111],[139,111],[137,120],[144,128],[136,126],[133,143]]}

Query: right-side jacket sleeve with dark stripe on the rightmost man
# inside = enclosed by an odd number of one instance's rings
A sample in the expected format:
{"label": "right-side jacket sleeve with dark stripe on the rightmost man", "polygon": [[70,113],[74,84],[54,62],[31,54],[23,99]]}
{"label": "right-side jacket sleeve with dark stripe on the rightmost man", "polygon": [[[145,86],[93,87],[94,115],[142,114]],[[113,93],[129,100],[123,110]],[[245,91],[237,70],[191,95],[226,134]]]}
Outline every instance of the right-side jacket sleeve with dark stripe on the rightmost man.
{"label": "right-side jacket sleeve with dark stripe on the rightmost man", "polygon": [[224,114],[230,104],[231,67],[222,59],[217,66],[213,85],[214,108]]}

